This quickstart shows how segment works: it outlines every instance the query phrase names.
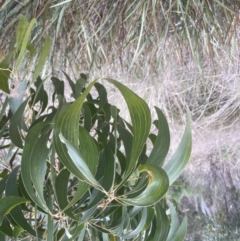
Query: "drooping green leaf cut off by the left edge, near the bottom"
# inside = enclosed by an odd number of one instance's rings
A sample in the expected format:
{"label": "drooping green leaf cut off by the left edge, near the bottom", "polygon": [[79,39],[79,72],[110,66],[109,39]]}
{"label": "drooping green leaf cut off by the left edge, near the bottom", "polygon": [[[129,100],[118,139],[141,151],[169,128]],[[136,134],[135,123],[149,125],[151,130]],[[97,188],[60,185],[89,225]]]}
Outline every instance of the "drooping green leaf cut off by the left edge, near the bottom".
{"label": "drooping green leaf cut off by the left edge, near the bottom", "polygon": [[14,207],[19,204],[29,202],[23,197],[8,196],[0,199],[0,225],[3,222],[3,218],[8,214]]}

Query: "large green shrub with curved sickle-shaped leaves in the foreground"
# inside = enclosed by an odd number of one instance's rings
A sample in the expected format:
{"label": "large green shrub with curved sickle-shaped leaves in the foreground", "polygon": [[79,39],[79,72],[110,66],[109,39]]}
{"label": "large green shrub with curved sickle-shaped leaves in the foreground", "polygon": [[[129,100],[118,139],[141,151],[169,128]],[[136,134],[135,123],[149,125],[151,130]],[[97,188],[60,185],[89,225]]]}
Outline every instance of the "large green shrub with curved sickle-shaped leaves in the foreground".
{"label": "large green shrub with curved sickle-shaped leaves in the foreground", "polygon": [[150,133],[147,104],[126,86],[102,80],[121,92],[131,123],[98,80],[85,87],[84,74],[76,82],[65,76],[70,101],[62,80],[51,78],[48,96],[38,77],[1,107],[2,240],[183,240],[187,219],[179,223],[166,193],[189,160],[190,118],[164,164],[170,135],[160,109],[158,133]]}

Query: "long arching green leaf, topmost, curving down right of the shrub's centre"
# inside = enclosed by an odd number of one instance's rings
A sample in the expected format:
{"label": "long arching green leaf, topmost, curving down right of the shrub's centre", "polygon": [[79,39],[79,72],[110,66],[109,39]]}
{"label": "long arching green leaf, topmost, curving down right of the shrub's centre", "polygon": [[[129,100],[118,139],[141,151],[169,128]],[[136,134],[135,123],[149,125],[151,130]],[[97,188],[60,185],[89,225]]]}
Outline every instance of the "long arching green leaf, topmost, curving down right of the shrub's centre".
{"label": "long arching green leaf, topmost, curving down right of the shrub's centre", "polygon": [[127,163],[126,172],[121,182],[122,185],[127,180],[132,170],[135,168],[142,148],[146,143],[151,126],[151,114],[146,102],[135,93],[133,93],[129,88],[117,82],[116,80],[106,80],[114,84],[123,95],[128,105],[133,126],[133,143],[131,158]]}

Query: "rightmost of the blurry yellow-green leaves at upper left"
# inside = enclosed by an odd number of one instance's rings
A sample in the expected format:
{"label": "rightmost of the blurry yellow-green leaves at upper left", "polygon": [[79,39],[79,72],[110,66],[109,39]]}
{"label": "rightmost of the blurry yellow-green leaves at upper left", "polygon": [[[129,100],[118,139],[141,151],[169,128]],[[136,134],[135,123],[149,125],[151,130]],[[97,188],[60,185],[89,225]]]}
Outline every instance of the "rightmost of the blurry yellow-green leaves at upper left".
{"label": "rightmost of the blurry yellow-green leaves at upper left", "polygon": [[45,36],[45,43],[44,43],[44,46],[43,46],[43,49],[41,49],[41,54],[40,54],[40,57],[39,57],[39,60],[38,60],[38,63],[35,67],[35,71],[33,73],[33,81],[38,77],[38,75],[41,73],[42,71],[42,68],[47,60],[47,57],[49,55],[49,51],[50,51],[50,48],[51,48],[51,38],[46,35]]}

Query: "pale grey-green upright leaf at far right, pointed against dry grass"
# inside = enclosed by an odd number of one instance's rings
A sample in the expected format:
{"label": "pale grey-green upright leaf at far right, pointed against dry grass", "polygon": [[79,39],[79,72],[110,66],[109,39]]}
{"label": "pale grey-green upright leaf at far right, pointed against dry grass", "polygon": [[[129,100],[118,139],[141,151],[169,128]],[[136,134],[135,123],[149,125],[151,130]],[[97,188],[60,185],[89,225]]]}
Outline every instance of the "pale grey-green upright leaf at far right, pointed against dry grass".
{"label": "pale grey-green upright leaf at far right, pointed against dry grass", "polygon": [[177,178],[181,175],[182,171],[186,167],[192,150],[192,133],[191,133],[191,118],[190,114],[188,114],[187,125],[181,140],[181,143],[172,156],[170,161],[164,168],[166,173],[168,174],[170,185],[177,180]]}

